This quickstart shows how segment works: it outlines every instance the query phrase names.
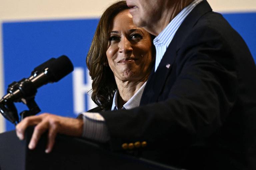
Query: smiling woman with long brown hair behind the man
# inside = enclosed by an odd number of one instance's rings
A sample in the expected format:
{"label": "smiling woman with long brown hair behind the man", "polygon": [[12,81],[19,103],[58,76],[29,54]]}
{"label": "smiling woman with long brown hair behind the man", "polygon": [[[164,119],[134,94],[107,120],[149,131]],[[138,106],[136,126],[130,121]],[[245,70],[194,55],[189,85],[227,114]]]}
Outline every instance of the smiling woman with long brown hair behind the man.
{"label": "smiling woman with long brown hair behind the man", "polygon": [[154,53],[152,36],[133,24],[126,2],[108,7],[87,55],[92,99],[99,106],[91,111],[123,108],[147,81]]}

